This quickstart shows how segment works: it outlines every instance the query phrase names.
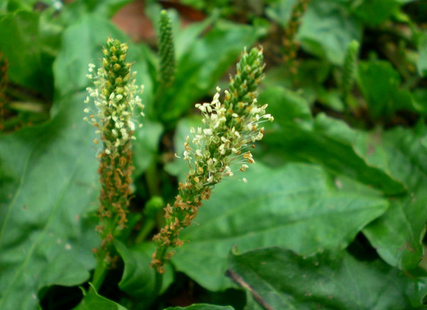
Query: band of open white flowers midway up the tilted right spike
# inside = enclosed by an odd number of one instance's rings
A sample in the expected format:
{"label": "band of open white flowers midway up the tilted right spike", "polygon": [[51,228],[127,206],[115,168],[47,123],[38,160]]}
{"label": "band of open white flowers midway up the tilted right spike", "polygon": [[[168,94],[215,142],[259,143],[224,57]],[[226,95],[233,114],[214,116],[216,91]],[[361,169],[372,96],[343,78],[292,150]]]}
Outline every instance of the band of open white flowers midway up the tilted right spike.
{"label": "band of open white flowers midway up the tilted right spike", "polygon": [[[204,128],[191,128],[193,148],[190,148],[189,136],[184,145],[184,159],[189,161],[189,175],[195,176],[196,188],[215,185],[223,177],[232,176],[232,163],[238,163],[244,172],[248,164],[255,162],[251,151],[245,151],[246,148],[263,138],[264,128],[259,124],[273,121],[273,116],[265,113],[268,105],[258,106],[255,98],[251,103],[242,103],[246,113],[238,114],[233,106],[227,109],[219,101],[220,89],[216,91],[211,103],[196,105],[203,115]],[[226,91],[228,96],[230,93]]]}

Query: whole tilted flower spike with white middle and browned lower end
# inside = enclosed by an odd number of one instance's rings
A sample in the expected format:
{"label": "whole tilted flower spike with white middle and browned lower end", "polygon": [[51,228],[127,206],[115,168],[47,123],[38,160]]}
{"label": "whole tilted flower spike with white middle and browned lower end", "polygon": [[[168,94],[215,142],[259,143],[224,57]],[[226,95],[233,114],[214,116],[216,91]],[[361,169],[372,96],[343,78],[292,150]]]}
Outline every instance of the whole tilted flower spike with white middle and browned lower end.
{"label": "whole tilted flower spike with white middle and browned lower end", "polygon": [[[260,106],[256,100],[263,68],[263,51],[245,50],[223,103],[217,88],[211,103],[196,104],[203,116],[203,126],[191,128],[192,138],[186,138],[184,160],[189,162],[189,174],[186,182],[179,183],[174,205],[165,208],[167,224],[154,237],[156,252],[151,265],[157,272],[164,272],[164,262],[172,256],[173,252],[168,253],[167,249],[183,243],[179,232],[196,217],[201,201],[209,199],[211,187],[232,176],[236,165],[245,172],[255,162],[247,149],[263,138],[260,123],[273,121],[273,116],[265,113],[267,105]],[[242,180],[247,182],[244,177]]]}

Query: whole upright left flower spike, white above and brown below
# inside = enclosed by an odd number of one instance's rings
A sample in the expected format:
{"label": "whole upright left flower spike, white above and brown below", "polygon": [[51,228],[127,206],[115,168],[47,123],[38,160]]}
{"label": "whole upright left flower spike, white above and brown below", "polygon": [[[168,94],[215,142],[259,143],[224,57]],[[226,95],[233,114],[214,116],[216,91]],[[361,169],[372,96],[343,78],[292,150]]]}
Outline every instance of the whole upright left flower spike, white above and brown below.
{"label": "whole upright left flower spike, white above and brown below", "polygon": [[[98,154],[101,192],[97,215],[100,224],[96,227],[102,241],[95,252],[110,265],[117,259],[110,256],[112,240],[117,229],[125,228],[127,222],[130,175],[134,169],[131,141],[135,139],[132,136],[135,123],[132,114],[135,108],[142,110],[143,106],[138,95],[139,87],[135,85],[135,73],[125,62],[127,45],[108,38],[102,53],[102,68],[96,70],[93,64],[89,65],[88,78],[95,87],[87,88],[89,95],[85,103],[93,101],[95,112],[93,108],[85,108],[85,113],[90,115],[84,119],[95,126],[95,133],[100,135],[102,143]],[[94,143],[100,142],[95,139]]]}

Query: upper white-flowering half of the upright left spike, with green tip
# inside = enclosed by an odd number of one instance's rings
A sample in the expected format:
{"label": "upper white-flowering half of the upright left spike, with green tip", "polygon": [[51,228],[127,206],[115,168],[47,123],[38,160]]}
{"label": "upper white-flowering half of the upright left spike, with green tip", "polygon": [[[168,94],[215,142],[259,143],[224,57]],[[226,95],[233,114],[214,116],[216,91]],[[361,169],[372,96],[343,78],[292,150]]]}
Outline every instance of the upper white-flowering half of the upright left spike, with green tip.
{"label": "upper white-flowering half of the upright left spike, with green tip", "polygon": [[[130,73],[130,64],[125,63],[127,44],[118,43],[112,38],[108,38],[107,45],[109,43],[115,44],[110,48],[104,48],[103,53],[104,56],[108,56],[109,53],[113,55],[110,59],[107,57],[102,59],[102,68],[96,70],[93,63],[89,64],[87,76],[93,81],[95,87],[87,88],[89,95],[85,103],[93,100],[96,110],[94,113],[93,109],[85,108],[85,113],[90,115],[84,120],[97,128],[95,133],[101,137],[105,147],[104,152],[107,155],[117,155],[120,147],[126,145],[129,140],[135,139],[132,137],[135,131],[132,115],[135,107],[141,110],[144,108],[141,98],[137,95],[142,91],[143,86],[139,89],[135,84],[135,72]],[[142,112],[141,114],[144,115]],[[97,140],[94,142],[98,143]]]}

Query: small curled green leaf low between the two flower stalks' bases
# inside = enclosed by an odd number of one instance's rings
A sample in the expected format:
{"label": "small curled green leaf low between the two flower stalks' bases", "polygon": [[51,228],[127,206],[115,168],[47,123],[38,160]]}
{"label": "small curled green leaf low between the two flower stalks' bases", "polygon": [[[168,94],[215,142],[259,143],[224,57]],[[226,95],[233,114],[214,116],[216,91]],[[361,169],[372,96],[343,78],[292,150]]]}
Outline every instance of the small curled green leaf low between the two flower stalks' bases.
{"label": "small curled green leaf low between the two flower stalks' bases", "polygon": [[[125,271],[119,282],[119,287],[130,296],[144,300],[149,309],[149,301],[154,301],[157,296],[154,294],[154,270],[149,267],[154,252],[153,243],[137,244],[133,247],[126,247],[125,244],[115,241],[115,247],[125,262]],[[162,290],[166,291],[174,281],[174,274],[170,265],[166,266],[163,274]]]}

